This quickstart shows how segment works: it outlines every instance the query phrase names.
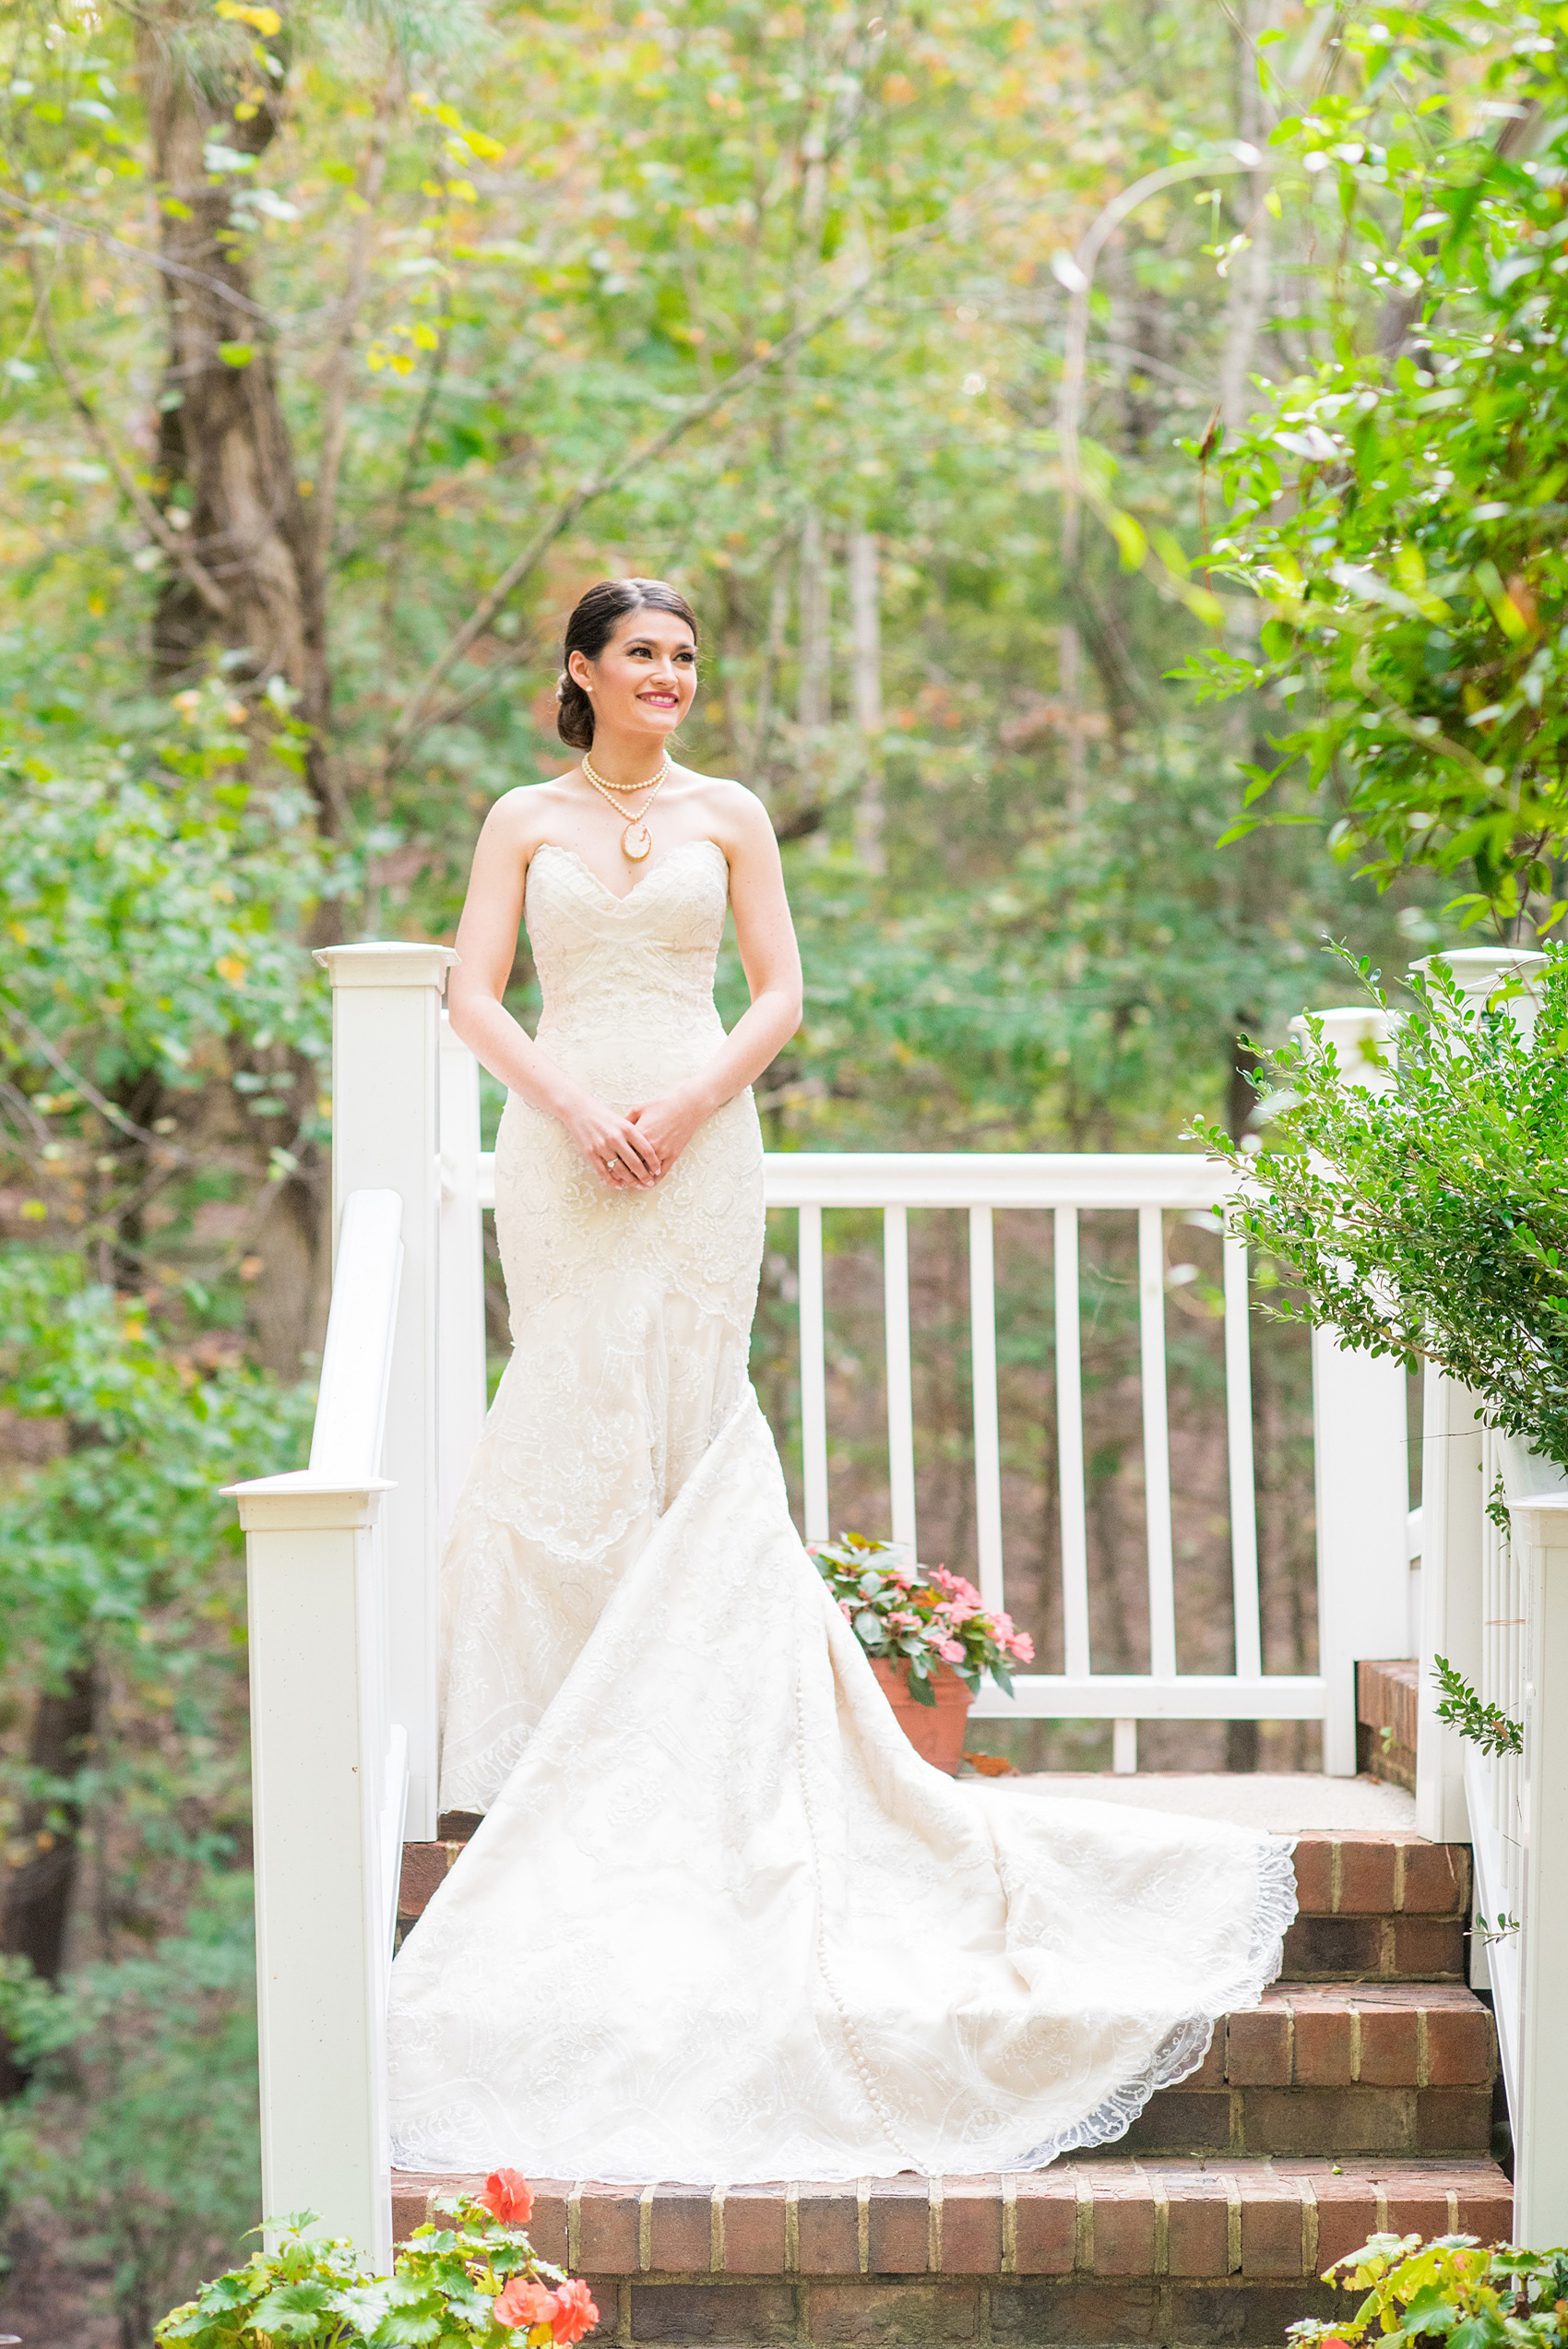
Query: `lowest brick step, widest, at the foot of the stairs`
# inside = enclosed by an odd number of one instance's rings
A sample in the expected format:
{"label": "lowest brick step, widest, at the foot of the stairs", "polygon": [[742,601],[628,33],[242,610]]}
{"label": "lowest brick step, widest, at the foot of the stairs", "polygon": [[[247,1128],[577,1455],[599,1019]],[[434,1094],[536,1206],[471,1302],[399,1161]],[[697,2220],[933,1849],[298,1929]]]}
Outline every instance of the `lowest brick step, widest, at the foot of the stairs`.
{"label": "lowest brick step, widest, at the foot of the stairs", "polygon": [[[394,2178],[399,2239],[432,2194]],[[1329,2316],[1317,2279],[1371,2234],[1512,2234],[1486,2159],[1082,2156],[1007,2178],[599,2187],[535,2180],[530,2236],[589,2279],[596,2340],[826,2344],[1277,2344]]]}

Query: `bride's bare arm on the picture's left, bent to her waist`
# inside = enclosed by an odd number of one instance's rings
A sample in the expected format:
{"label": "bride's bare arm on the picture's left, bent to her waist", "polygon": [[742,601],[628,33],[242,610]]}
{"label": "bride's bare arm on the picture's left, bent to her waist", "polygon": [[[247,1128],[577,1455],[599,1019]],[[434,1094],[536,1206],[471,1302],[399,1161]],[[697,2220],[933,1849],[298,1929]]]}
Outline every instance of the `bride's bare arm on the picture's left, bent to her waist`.
{"label": "bride's bare arm on the picture's left, bent to her waist", "polygon": [[584,1092],[547,1052],[540,1052],[533,1036],[502,1003],[523,918],[523,881],[533,848],[526,796],[507,792],[491,808],[474,848],[474,869],[458,923],[458,963],[446,982],[453,1029],[491,1076],[561,1120],[603,1182],[617,1189],[648,1186],[657,1182],[662,1170],[655,1149],[638,1135],[634,1120],[617,1116],[592,1092]]}

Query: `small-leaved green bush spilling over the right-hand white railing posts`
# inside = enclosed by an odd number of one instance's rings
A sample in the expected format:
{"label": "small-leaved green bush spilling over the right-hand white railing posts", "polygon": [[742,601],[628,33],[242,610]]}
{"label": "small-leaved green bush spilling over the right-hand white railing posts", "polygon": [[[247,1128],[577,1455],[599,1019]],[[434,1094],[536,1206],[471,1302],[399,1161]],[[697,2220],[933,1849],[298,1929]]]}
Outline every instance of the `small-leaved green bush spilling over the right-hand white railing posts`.
{"label": "small-leaved green bush spilling over the right-hand white railing posts", "polygon": [[1392,1090],[1347,1081],[1307,1019],[1310,1041],[1265,1059],[1261,1156],[1192,1132],[1246,1174],[1232,1229],[1300,1285],[1279,1313],[1437,1362],[1488,1426],[1568,1468],[1568,951],[1533,994],[1526,1041],[1502,994],[1472,1005],[1439,961],[1411,982]]}

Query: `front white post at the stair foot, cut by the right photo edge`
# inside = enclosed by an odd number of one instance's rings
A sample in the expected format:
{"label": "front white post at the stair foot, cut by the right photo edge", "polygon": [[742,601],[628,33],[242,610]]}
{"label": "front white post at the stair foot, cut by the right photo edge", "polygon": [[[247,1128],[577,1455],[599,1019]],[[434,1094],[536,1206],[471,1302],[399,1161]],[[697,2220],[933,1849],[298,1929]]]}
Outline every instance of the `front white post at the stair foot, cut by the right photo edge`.
{"label": "front white post at the stair foot, cut by the right photo edge", "polygon": [[1568,2243],[1568,1494],[1509,1499],[1523,1614],[1523,1945],[1514,2239]]}

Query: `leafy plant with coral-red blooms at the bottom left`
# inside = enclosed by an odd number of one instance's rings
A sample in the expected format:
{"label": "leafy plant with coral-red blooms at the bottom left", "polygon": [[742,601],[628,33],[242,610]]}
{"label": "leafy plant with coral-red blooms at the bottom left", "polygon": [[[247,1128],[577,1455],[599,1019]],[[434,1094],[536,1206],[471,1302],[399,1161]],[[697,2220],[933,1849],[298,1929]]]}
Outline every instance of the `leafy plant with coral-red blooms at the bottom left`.
{"label": "leafy plant with coral-red blooms at the bottom left", "polygon": [[369,2276],[352,2243],[317,2241],[296,2220],[277,2250],[258,2250],[164,2316],[155,2340],[160,2349],[570,2349],[599,2323],[587,2283],[540,2260],[523,2234],[533,2194],[516,2170],[495,2170],[484,2194],[441,2210],[451,2225],[415,2227],[390,2276]]}

